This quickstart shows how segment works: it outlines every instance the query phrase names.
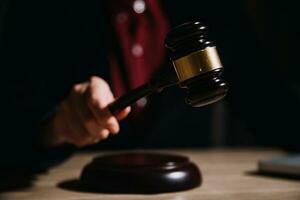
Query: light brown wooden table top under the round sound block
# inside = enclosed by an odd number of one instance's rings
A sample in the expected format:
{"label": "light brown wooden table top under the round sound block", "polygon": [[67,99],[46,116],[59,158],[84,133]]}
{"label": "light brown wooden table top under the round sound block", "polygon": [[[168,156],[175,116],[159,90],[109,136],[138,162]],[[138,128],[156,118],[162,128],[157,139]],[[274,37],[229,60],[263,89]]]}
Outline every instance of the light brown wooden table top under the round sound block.
{"label": "light brown wooden table top under the round sound block", "polygon": [[[165,152],[165,151],[164,151]],[[32,186],[0,194],[1,200],[300,200],[300,181],[253,174],[257,161],[281,155],[280,151],[259,149],[173,150],[187,155],[201,169],[201,187],[176,193],[155,195],[124,195],[82,192],[76,189],[82,167],[95,155],[76,154],[60,166],[39,175]],[[108,153],[108,152],[102,152]],[[73,186],[72,186],[73,183]]]}

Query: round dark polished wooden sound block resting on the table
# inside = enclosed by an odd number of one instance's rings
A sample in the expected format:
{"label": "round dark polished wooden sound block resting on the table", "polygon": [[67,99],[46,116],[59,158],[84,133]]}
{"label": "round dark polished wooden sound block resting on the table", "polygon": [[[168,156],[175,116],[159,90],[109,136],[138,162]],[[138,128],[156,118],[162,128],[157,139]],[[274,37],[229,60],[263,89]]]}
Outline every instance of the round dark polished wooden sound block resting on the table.
{"label": "round dark polished wooden sound block resting on the table", "polygon": [[185,156],[122,153],[94,158],[84,167],[80,182],[94,192],[161,193],[197,187],[202,176]]}

